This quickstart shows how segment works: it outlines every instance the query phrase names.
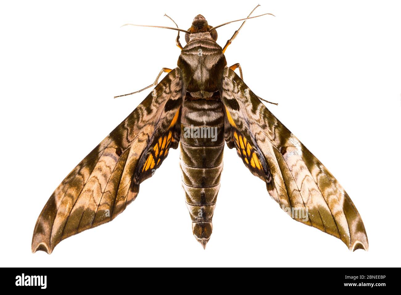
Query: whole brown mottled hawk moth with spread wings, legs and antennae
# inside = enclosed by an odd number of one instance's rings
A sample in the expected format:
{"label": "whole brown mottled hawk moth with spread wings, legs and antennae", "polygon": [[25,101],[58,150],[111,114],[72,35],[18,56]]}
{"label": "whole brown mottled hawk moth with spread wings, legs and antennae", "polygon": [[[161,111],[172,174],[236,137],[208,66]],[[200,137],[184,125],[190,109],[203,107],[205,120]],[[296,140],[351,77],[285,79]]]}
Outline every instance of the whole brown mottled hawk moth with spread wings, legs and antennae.
{"label": "whole brown mottled hawk moth with spread wings, legs and antennae", "polygon": [[[251,14],[241,19],[241,27],[258,17]],[[155,83],[142,89],[155,85],[154,90],[55,189],[34,227],[32,252],[50,254],[61,240],[113,220],[134,201],[140,183],[152,177],[169,149],[178,146],[192,232],[205,248],[225,143],[265,182],[282,209],[291,208],[294,220],[341,239],[350,250],[368,249],[364,224],[348,194],[247,87],[239,63],[227,67],[225,50],[241,29],[222,48],[216,28],[228,23],[212,27],[199,14],[188,30],[159,26],[178,31],[177,67],[163,68]],[[184,47],[180,32],[186,33]],[[168,74],[157,83],[163,72]],[[297,208],[306,216],[294,215]]]}

